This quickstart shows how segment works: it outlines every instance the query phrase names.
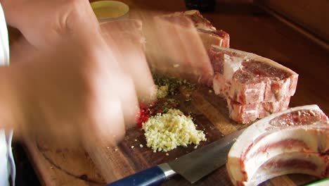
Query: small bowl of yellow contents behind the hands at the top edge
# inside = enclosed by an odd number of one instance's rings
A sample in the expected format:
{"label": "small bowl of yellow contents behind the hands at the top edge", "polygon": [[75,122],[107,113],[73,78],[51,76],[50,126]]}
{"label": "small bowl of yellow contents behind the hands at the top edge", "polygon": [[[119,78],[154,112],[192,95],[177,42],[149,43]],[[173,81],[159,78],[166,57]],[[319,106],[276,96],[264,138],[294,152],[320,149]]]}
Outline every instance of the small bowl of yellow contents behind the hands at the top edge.
{"label": "small bowl of yellow contents behind the hands at the top edge", "polygon": [[91,8],[100,21],[127,18],[129,13],[129,6],[120,1],[94,1]]}

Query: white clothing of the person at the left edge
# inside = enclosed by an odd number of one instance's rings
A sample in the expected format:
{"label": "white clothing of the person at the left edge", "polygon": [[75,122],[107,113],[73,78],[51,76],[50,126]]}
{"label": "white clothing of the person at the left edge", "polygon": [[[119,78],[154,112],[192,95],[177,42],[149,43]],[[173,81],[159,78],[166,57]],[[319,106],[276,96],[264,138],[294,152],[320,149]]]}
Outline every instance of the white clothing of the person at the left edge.
{"label": "white clothing of the person at the left edge", "polygon": [[[0,65],[9,65],[8,30],[4,11],[0,4]],[[15,162],[11,151],[13,131],[0,130],[0,186],[9,185],[9,179],[15,185]]]}

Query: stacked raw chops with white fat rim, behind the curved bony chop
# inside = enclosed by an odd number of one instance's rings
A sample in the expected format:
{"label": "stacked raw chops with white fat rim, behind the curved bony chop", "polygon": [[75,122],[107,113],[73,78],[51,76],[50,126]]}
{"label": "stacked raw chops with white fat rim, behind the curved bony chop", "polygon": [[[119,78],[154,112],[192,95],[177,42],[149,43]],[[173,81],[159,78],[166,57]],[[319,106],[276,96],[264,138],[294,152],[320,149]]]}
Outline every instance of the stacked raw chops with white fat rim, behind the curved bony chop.
{"label": "stacked raw chops with white fat rim, behind the curved bony chop", "polygon": [[298,75],[269,58],[215,46],[209,49],[215,94],[228,103],[230,117],[251,123],[288,108]]}

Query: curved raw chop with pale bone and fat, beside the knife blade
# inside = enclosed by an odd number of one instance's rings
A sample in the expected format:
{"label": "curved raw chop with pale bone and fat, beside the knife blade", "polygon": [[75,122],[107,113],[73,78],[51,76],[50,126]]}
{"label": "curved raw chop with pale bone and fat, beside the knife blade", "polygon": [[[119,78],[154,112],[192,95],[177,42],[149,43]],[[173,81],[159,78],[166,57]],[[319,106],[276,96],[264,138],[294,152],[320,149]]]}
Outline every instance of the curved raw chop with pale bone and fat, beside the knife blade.
{"label": "curved raw chop with pale bone and fat, beside the knife blade", "polygon": [[316,105],[273,113],[247,128],[226,163],[233,185],[288,173],[329,177],[329,120]]}

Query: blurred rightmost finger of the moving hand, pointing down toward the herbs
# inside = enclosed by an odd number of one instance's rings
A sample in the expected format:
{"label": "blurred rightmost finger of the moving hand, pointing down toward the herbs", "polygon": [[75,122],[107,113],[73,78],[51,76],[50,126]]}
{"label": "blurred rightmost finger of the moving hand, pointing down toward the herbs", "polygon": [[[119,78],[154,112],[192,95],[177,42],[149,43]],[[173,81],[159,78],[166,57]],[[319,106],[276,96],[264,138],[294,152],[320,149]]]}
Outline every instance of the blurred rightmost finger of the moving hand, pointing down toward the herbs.
{"label": "blurred rightmost finger of the moving hand, pointing down toward the herbs", "polygon": [[153,100],[155,85],[144,54],[141,22],[112,21],[103,23],[101,30],[120,67],[133,80],[138,98]]}

